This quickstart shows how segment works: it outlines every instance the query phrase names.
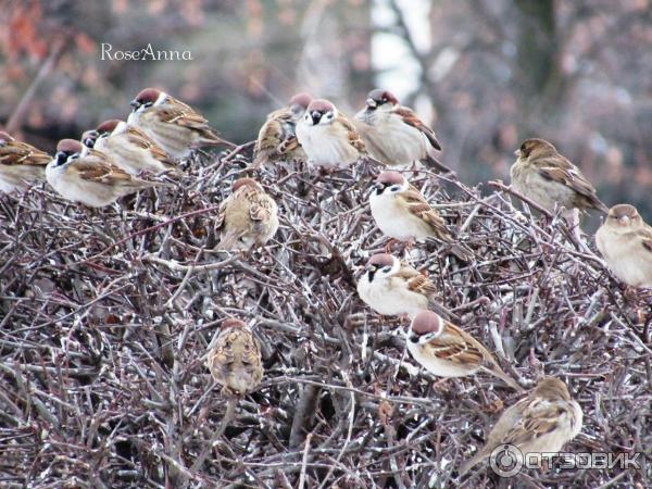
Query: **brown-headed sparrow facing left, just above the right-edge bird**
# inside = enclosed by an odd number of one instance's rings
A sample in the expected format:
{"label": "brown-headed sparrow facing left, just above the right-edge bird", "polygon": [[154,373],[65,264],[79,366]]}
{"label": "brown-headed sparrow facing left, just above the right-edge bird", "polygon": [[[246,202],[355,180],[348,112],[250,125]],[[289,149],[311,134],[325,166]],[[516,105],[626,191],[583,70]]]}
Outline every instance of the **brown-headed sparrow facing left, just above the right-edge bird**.
{"label": "brown-headed sparrow facing left, just above the right-edge bird", "polygon": [[607,212],[579,168],[547,140],[526,139],[514,154],[517,159],[510,171],[514,189],[541,208],[552,212],[556,204],[566,211]]}

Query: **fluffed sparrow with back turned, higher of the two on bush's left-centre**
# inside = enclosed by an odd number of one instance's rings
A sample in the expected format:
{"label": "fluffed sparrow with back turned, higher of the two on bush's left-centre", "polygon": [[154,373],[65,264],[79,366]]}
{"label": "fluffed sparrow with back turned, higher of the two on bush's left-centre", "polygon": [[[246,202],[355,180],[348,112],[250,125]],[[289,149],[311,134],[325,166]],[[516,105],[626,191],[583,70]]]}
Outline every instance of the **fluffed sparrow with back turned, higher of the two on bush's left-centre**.
{"label": "fluffed sparrow with back turned, higher of the two on bush's left-centre", "polygon": [[217,249],[249,251],[278,230],[278,206],[258,181],[240,178],[220,205],[215,225],[222,234]]}

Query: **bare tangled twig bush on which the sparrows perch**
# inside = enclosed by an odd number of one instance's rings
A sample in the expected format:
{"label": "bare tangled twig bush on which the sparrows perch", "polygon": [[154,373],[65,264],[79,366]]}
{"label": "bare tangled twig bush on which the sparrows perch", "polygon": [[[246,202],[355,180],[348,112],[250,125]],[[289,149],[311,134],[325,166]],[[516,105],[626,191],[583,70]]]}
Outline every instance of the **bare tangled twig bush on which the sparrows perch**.
{"label": "bare tangled twig bush on which the sparrows perch", "polygon": [[[486,464],[463,482],[455,471],[518,394],[417,368],[405,323],[355,293],[355,268],[385,244],[371,172],[262,171],[278,234],[250,255],[216,252],[216,208],[247,164],[198,156],[176,188],[99,211],[45,187],[1,198],[2,487],[504,487]],[[477,259],[436,242],[406,254],[441,305],[524,385],[567,381],[585,413],[567,451],[643,453],[641,471],[526,471],[513,482],[651,487],[649,299],[502,190],[484,197],[428,172],[411,181]],[[227,401],[204,355],[228,316],[253,325],[265,377],[222,427]]]}

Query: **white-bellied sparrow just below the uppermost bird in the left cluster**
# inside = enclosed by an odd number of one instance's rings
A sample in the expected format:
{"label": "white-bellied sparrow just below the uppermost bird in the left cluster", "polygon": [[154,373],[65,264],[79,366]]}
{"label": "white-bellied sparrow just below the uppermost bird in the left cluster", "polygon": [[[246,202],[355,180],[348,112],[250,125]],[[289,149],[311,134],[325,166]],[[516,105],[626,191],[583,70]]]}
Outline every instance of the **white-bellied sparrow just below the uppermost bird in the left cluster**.
{"label": "white-bellied sparrow just below the uppermost bird in the left cluster", "polygon": [[[86,138],[84,138],[86,136]],[[104,121],[83,142],[109,154],[111,161],[130,175],[140,172],[162,173],[176,166],[174,159],[140,129],[116,118]]]}

